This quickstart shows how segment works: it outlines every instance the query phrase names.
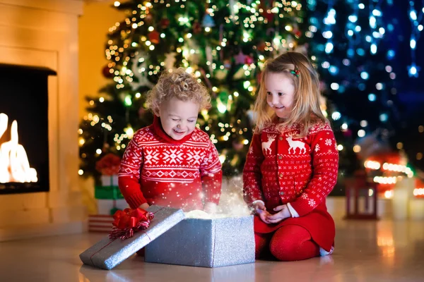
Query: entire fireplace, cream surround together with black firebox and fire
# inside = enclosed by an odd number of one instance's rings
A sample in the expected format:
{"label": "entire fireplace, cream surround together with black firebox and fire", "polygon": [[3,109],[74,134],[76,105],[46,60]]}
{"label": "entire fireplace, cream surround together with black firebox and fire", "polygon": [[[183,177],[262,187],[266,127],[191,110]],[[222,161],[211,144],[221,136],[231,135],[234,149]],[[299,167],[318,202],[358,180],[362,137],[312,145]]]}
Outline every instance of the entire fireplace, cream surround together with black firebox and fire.
{"label": "entire fireplace, cream surround together with black firebox and fire", "polygon": [[0,143],[19,160],[14,168],[36,180],[18,183],[25,176],[15,173],[0,184],[0,241],[86,229],[78,183],[82,8],[83,1],[0,0]]}

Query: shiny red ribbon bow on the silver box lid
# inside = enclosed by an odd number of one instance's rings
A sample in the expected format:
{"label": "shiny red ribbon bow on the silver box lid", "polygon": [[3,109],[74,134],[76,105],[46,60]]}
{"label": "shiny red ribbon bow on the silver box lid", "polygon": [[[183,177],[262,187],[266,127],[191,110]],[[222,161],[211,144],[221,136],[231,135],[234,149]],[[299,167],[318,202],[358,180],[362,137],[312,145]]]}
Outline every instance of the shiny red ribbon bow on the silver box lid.
{"label": "shiny red ribbon bow on the silver box lid", "polygon": [[140,208],[117,211],[113,215],[113,227],[109,238],[122,240],[131,238],[135,232],[148,228],[153,217],[154,214]]}

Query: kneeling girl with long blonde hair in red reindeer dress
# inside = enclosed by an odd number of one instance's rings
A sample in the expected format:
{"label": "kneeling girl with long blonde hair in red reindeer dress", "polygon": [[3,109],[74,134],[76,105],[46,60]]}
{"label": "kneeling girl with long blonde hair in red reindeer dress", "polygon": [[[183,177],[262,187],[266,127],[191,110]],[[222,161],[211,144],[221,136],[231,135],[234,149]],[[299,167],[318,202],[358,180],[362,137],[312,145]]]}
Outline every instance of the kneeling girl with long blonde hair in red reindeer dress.
{"label": "kneeling girl with long blonde hair in red reindeer dress", "polygon": [[266,62],[243,170],[257,257],[293,261],[334,250],[325,200],[336,184],[338,150],[319,98],[319,78],[306,56],[288,52]]}

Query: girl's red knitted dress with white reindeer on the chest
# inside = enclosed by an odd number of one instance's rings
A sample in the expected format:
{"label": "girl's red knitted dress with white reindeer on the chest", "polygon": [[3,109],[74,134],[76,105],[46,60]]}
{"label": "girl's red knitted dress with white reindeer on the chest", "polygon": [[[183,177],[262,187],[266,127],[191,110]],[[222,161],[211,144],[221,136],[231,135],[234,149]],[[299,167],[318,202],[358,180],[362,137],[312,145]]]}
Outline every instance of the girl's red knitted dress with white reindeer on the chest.
{"label": "girl's red knitted dress with white reindeer on the chest", "polygon": [[270,233],[283,225],[300,225],[310,231],[320,247],[329,251],[335,228],[325,199],[337,180],[336,140],[329,124],[324,122],[313,125],[306,137],[293,137],[298,133],[299,124],[281,132],[276,124],[271,124],[254,135],[243,171],[245,201],[252,204],[262,200],[269,212],[288,204],[293,216],[276,224],[255,220],[255,232]]}

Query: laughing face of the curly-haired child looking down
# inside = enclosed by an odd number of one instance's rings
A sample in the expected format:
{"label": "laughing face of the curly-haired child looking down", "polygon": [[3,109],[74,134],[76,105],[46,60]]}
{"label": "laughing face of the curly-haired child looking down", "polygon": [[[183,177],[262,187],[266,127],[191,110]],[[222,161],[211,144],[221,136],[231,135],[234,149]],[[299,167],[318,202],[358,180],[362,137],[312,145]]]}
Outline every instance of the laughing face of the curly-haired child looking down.
{"label": "laughing face of the curly-haired child looking down", "polygon": [[184,102],[172,98],[160,105],[156,115],[160,116],[160,123],[165,133],[174,140],[181,140],[196,128],[199,106],[192,101]]}

